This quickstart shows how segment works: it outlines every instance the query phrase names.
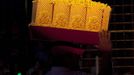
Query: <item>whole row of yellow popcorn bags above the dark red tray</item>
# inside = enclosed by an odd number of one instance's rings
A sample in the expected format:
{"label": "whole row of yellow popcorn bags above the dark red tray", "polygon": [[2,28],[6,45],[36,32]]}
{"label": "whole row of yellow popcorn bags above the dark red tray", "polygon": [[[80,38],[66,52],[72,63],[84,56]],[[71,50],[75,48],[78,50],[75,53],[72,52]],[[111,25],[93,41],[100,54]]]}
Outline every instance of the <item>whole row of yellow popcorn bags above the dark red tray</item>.
{"label": "whole row of yellow popcorn bags above the dark red tray", "polygon": [[91,0],[35,0],[33,26],[99,32],[108,30],[111,7]]}

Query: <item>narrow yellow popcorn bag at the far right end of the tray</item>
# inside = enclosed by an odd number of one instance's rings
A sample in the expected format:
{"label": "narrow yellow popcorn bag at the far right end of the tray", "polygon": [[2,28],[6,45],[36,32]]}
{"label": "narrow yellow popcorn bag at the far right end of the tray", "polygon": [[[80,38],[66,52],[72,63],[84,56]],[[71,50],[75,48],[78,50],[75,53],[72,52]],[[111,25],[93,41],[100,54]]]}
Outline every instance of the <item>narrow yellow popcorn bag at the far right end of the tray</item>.
{"label": "narrow yellow popcorn bag at the far right end of the tray", "polygon": [[109,26],[110,12],[111,12],[111,7],[110,6],[107,6],[107,7],[104,8],[102,29],[106,30],[106,31],[108,30],[108,26]]}

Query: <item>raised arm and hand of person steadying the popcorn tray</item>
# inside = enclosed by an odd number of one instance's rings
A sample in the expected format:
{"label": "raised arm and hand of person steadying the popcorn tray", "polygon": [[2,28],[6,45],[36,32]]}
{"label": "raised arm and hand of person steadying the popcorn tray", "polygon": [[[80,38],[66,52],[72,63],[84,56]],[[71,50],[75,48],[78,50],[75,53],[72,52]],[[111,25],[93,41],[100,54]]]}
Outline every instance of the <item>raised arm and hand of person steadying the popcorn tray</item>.
{"label": "raised arm and hand of person steadying the popcorn tray", "polygon": [[112,45],[110,33],[106,31],[100,32],[100,44],[98,48],[101,52],[99,75],[112,75]]}

